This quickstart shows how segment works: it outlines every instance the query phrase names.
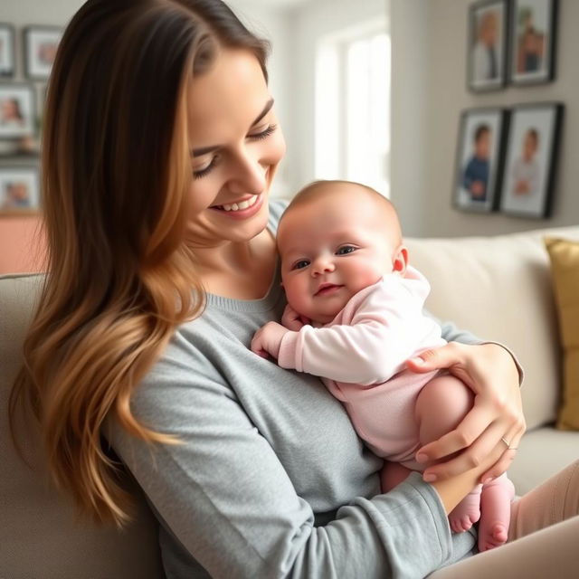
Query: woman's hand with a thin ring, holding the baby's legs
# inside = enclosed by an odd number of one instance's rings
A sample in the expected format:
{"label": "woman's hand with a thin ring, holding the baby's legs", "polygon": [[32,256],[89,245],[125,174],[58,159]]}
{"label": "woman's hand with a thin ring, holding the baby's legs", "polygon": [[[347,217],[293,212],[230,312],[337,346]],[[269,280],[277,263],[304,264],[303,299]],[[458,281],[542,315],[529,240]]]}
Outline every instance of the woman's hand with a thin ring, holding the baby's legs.
{"label": "woman's hand with a thin ring, holding the baby's legs", "polygon": [[473,408],[457,428],[417,452],[417,460],[430,462],[461,451],[456,457],[424,470],[424,480],[447,479],[471,470],[492,455],[498,444],[504,451],[480,476],[480,481],[505,472],[526,429],[517,365],[508,351],[497,344],[470,346],[451,342],[422,352],[408,360],[407,366],[417,373],[447,368],[475,394]]}

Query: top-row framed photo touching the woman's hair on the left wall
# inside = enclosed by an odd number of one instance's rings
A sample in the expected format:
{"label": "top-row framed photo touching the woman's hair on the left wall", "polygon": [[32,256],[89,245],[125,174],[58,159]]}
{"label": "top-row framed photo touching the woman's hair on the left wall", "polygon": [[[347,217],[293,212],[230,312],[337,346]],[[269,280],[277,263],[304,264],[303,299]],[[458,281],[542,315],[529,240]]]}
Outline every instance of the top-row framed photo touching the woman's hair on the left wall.
{"label": "top-row framed photo touching the woman's hair on the left wall", "polygon": [[24,28],[24,69],[29,79],[45,81],[49,78],[62,32],[58,26],[30,25]]}

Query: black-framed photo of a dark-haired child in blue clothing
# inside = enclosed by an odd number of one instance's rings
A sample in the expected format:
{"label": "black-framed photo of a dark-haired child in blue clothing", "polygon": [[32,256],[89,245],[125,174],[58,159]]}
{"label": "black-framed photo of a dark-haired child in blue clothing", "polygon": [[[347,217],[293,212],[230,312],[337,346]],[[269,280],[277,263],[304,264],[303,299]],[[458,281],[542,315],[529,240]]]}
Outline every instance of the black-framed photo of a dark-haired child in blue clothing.
{"label": "black-framed photo of a dark-haired child in blue clothing", "polygon": [[468,109],[460,117],[452,203],[462,211],[488,213],[498,207],[506,109]]}

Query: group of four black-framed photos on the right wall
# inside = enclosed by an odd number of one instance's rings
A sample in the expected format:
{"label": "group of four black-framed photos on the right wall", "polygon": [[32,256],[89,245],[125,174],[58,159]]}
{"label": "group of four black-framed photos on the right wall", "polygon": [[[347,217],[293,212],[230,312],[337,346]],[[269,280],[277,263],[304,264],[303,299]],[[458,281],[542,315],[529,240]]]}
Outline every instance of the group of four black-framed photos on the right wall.
{"label": "group of four black-framed photos on the right wall", "polygon": [[[557,14],[558,0],[473,2],[468,89],[480,93],[554,81]],[[549,217],[564,110],[562,102],[527,102],[462,111],[454,206],[462,211]]]}

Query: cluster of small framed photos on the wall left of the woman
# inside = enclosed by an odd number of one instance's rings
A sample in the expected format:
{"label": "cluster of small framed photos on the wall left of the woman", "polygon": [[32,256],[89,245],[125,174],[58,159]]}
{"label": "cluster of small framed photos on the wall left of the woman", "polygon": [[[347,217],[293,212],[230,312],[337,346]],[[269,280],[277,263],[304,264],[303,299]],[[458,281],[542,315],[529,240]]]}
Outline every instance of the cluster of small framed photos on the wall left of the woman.
{"label": "cluster of small framed photos on the wall left of the woman", "polygon": [[61,37],[61,28],[0,23],[0,217],[39,210],[43,101]]}

